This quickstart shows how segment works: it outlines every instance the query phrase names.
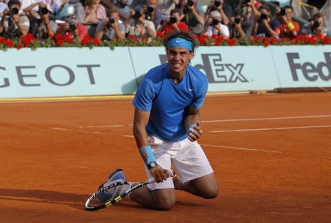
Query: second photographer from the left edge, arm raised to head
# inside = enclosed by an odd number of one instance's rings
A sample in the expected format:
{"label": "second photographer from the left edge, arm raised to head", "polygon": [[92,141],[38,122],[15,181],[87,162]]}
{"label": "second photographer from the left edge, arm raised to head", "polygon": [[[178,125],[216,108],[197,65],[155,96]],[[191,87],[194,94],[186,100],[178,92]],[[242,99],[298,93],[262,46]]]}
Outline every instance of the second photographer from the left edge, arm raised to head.
{"label": "second photographer from the left edge, arm raised to head", "polygon": [[[32,9],[36,6],[38,6],[39,18],[33,17],[31,14]],[[26,7],[24,12],[30,19],[30,22],[34,24],[30,26],[29,32],[39,41],[49,39],[57,32],[57,23],[50,20],[50,14],[52,13],[50,5],[43,2],[33,3],[31,6]]]}

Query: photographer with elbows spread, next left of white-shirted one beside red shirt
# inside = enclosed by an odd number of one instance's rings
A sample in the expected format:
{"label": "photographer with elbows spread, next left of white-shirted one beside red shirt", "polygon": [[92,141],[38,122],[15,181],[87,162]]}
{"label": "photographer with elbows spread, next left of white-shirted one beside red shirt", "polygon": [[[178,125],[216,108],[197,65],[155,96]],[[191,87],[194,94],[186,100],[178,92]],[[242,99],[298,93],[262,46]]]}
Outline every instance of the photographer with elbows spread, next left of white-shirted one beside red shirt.
{"label": "photographer with elbows spread, next left of white-shirted one beside red shirt", "polygon": [[119,12],[115,8],[110,9],[109,17],[100,21],[94,38],[99,40],[124,39],[126,26],[119,19]]}

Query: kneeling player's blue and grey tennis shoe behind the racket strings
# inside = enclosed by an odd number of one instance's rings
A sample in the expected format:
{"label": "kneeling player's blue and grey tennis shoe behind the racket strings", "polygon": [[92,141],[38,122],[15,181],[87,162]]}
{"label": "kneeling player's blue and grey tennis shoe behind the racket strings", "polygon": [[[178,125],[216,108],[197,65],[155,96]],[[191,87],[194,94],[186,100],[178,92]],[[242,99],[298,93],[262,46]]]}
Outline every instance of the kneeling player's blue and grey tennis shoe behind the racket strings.
{"label": "kneeling player's blue and grey tennis shoe behind the racket strings", "polygon": [[[110,184],[114,184],[117,182],[125,182],[125,181],[127,181],[127,180],[126,180],[126,175],[124,175],[124,171],[122,169],[116,169],[116,170],[112,171],[112,173],[110,173],[110,175],[108,177],[108,181],[101,184],[99,186],[99,189],[101,189],[105,186],[108,186]],[[111,200],[114,197],[121,195],[129,187],[130,187],[130,185],[123,184],[120,186],[115,186],[113,188],[109,188],[107,191],[103,191],[99,194],[99,200],[100,200],[100,202],[105,203],[108,200]]]}

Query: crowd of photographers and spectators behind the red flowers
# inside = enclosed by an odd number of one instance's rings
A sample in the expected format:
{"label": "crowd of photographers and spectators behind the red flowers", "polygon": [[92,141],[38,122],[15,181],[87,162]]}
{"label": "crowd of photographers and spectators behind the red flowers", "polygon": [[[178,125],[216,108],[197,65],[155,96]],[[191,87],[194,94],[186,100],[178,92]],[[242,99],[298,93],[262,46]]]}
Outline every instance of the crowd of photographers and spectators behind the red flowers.
{"label": "crowd of photographers and spectators behind the red flowers", "polygon": [[211,0],[205,8],[198,7],[197,0],[0,0],[0,36],[18,39],[31,33],[43,41],[59,33],[109,41],[129,35],[146,39],[173,30],[223,39],[326,35],[321,12],[304,31],[293,12],[285,6],[272,13],[257,0]]}

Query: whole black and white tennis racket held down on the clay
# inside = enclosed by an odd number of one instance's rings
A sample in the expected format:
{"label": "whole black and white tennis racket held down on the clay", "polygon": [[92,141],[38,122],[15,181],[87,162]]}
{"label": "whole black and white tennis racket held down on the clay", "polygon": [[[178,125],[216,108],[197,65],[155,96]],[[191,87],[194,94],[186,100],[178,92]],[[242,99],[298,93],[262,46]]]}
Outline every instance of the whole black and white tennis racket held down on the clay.
{"label": "whole black and white tennis racket held down on the clay", "polygon": [[[174,171],[172,171],[172,177],[174,177]],[[143,181],[143,182],[128,182],[128,181],[120,181],[120,182],[114,182],[113,184],[109,184],[108,186],[104,186],[103,188],[100,188],[98,191],[93,193],[88,200],[86,200],[85,207],[88,211],[97,211],[99,209],[104,209],[108,206],[111,206],[112,204],[117,204],[121,202],[121,200],[128,196],[129,193],[131,193],[134,190],[137,190],[137,188],[140,188],[141,186],[145,186],[146,184],[154,183],[154,178],[151,178],[149,180]],[[118,191],[121,191],[121,187],[126,185],[128,189],[126,191],[120,193],[117,195]],[[114,192],[114,195],[105,200],[103,197],[103,194],[106,191],[112,191]]]}

